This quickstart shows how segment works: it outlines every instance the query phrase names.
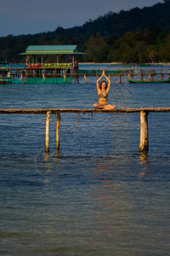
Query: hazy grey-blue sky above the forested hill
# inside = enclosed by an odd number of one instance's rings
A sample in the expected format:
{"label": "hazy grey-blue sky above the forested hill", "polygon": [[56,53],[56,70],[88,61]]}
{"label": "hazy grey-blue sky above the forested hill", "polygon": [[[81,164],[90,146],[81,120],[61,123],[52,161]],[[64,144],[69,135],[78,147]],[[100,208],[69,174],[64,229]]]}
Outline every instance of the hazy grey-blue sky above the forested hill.
{"label": "hazy grey-blue sky above the forested hill", "polygon": [[0,37],[82,26],[109,11],[149,7],[163,0],[0,0]]}

